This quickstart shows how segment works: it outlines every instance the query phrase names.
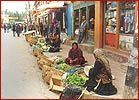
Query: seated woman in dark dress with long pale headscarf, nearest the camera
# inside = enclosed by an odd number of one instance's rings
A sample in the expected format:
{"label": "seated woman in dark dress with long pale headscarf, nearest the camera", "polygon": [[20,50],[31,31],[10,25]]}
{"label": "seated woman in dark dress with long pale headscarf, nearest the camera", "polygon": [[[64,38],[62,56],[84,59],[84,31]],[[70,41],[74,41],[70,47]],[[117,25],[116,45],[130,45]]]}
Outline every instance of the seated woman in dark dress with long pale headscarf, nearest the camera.
{"label": "seated woman in dark dress with long pale headscarf, nearest the camera", "polygon": [[94,50],[96,59],[94,67],[89,70],[89,80],[86,81],[87,90],[99,95],[114,95],[117,89],[112,84],[112,74],[107,57],[101,49]]}

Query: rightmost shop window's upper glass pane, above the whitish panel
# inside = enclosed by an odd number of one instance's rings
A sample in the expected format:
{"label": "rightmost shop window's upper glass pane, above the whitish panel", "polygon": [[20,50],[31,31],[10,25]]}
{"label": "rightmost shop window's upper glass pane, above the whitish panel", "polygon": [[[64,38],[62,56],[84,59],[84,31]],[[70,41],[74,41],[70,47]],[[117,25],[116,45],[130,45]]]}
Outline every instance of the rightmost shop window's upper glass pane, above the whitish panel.
{"label": "rightmost shop window's upper glass pane, above the whitish panel", "polygon": [[135,2],[120,2],[120,33],[134,33]]}

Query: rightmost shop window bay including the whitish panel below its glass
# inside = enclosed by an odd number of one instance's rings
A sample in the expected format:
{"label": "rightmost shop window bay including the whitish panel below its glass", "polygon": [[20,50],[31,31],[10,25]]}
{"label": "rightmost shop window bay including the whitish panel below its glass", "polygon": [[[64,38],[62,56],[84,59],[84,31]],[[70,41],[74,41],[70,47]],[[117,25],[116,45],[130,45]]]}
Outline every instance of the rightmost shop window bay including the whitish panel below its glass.
{"label": "rightmost shop window bay including the whitish panel below its glass", "polygon": [[133,47],[135,2],[120,2],[119,48],[131,51]]}

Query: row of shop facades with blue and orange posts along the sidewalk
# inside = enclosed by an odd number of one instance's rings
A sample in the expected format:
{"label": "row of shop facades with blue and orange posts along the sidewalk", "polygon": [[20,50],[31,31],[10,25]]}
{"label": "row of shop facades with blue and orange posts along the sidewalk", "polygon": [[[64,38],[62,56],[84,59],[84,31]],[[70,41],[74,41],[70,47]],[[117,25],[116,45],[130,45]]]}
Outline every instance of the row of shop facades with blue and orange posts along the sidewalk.
{"label": "row of shop facades with blue and orange posts along the sidewalk", "polygon": [[[65,29],[73,40],[77,40],[79,34],[75,31],[81,24],[81,16],[85,15],[87,31],[83,43],[93,45],[94,48],[130,54],[138,26],[137,1],[65,1],[59,7],[48,7],[47,4],[52,2],[35,2],[34,21],[47,21],[50,25],[56,17],[61,23],[61,30]],[[58,4],[58,1],[55,2]]]}

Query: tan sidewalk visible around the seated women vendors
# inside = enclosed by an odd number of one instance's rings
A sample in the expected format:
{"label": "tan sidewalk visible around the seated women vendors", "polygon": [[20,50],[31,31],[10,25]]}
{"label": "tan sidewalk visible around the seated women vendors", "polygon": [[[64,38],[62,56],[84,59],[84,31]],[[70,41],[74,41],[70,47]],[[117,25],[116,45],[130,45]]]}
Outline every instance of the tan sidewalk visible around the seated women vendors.
{"label": "tan sidewalk visible around the seated women vendors", "polygon": [[[48,57],[60,55],[63,58],[66,58],[68,56],[68,51],[69,51],[70,48],[71,48],[71,46],[62,44],[62,51],[57,52],[57,53],[46,52],[44,54],[47,55]],[[83,55],[84,55],[85,59],[88,61],[89,65],[93,65],[94,64],[95,58],[94,58],[92,53],[88,53],[86,51],[83,51]],[[125,84],[125,76],[126,76],[127,68],[123,67],[121,65],[121,63],[114,62],[114,61],[112,61],[110,59],[109,59],[109,61],[110,61],[110,66],[111,66],[112,74],[116,77],[116,79],[113,80],[113,84],[117,88],[118,93],[116,95],[113,95],[113,96],[100,96],[100,95],[97,95],[97,94],[87,95],[85,93],[83,98],[88,98],[88,99],[91,99],[91,98],[95,98],[95,99],[96,98],[98,98],[98,99],[100,99],[100,98],[105,98],[105,99],[106,98],[109,98],[109,99],[110,98],[122,99],[123,92],[124,92],[124,84]]]}

